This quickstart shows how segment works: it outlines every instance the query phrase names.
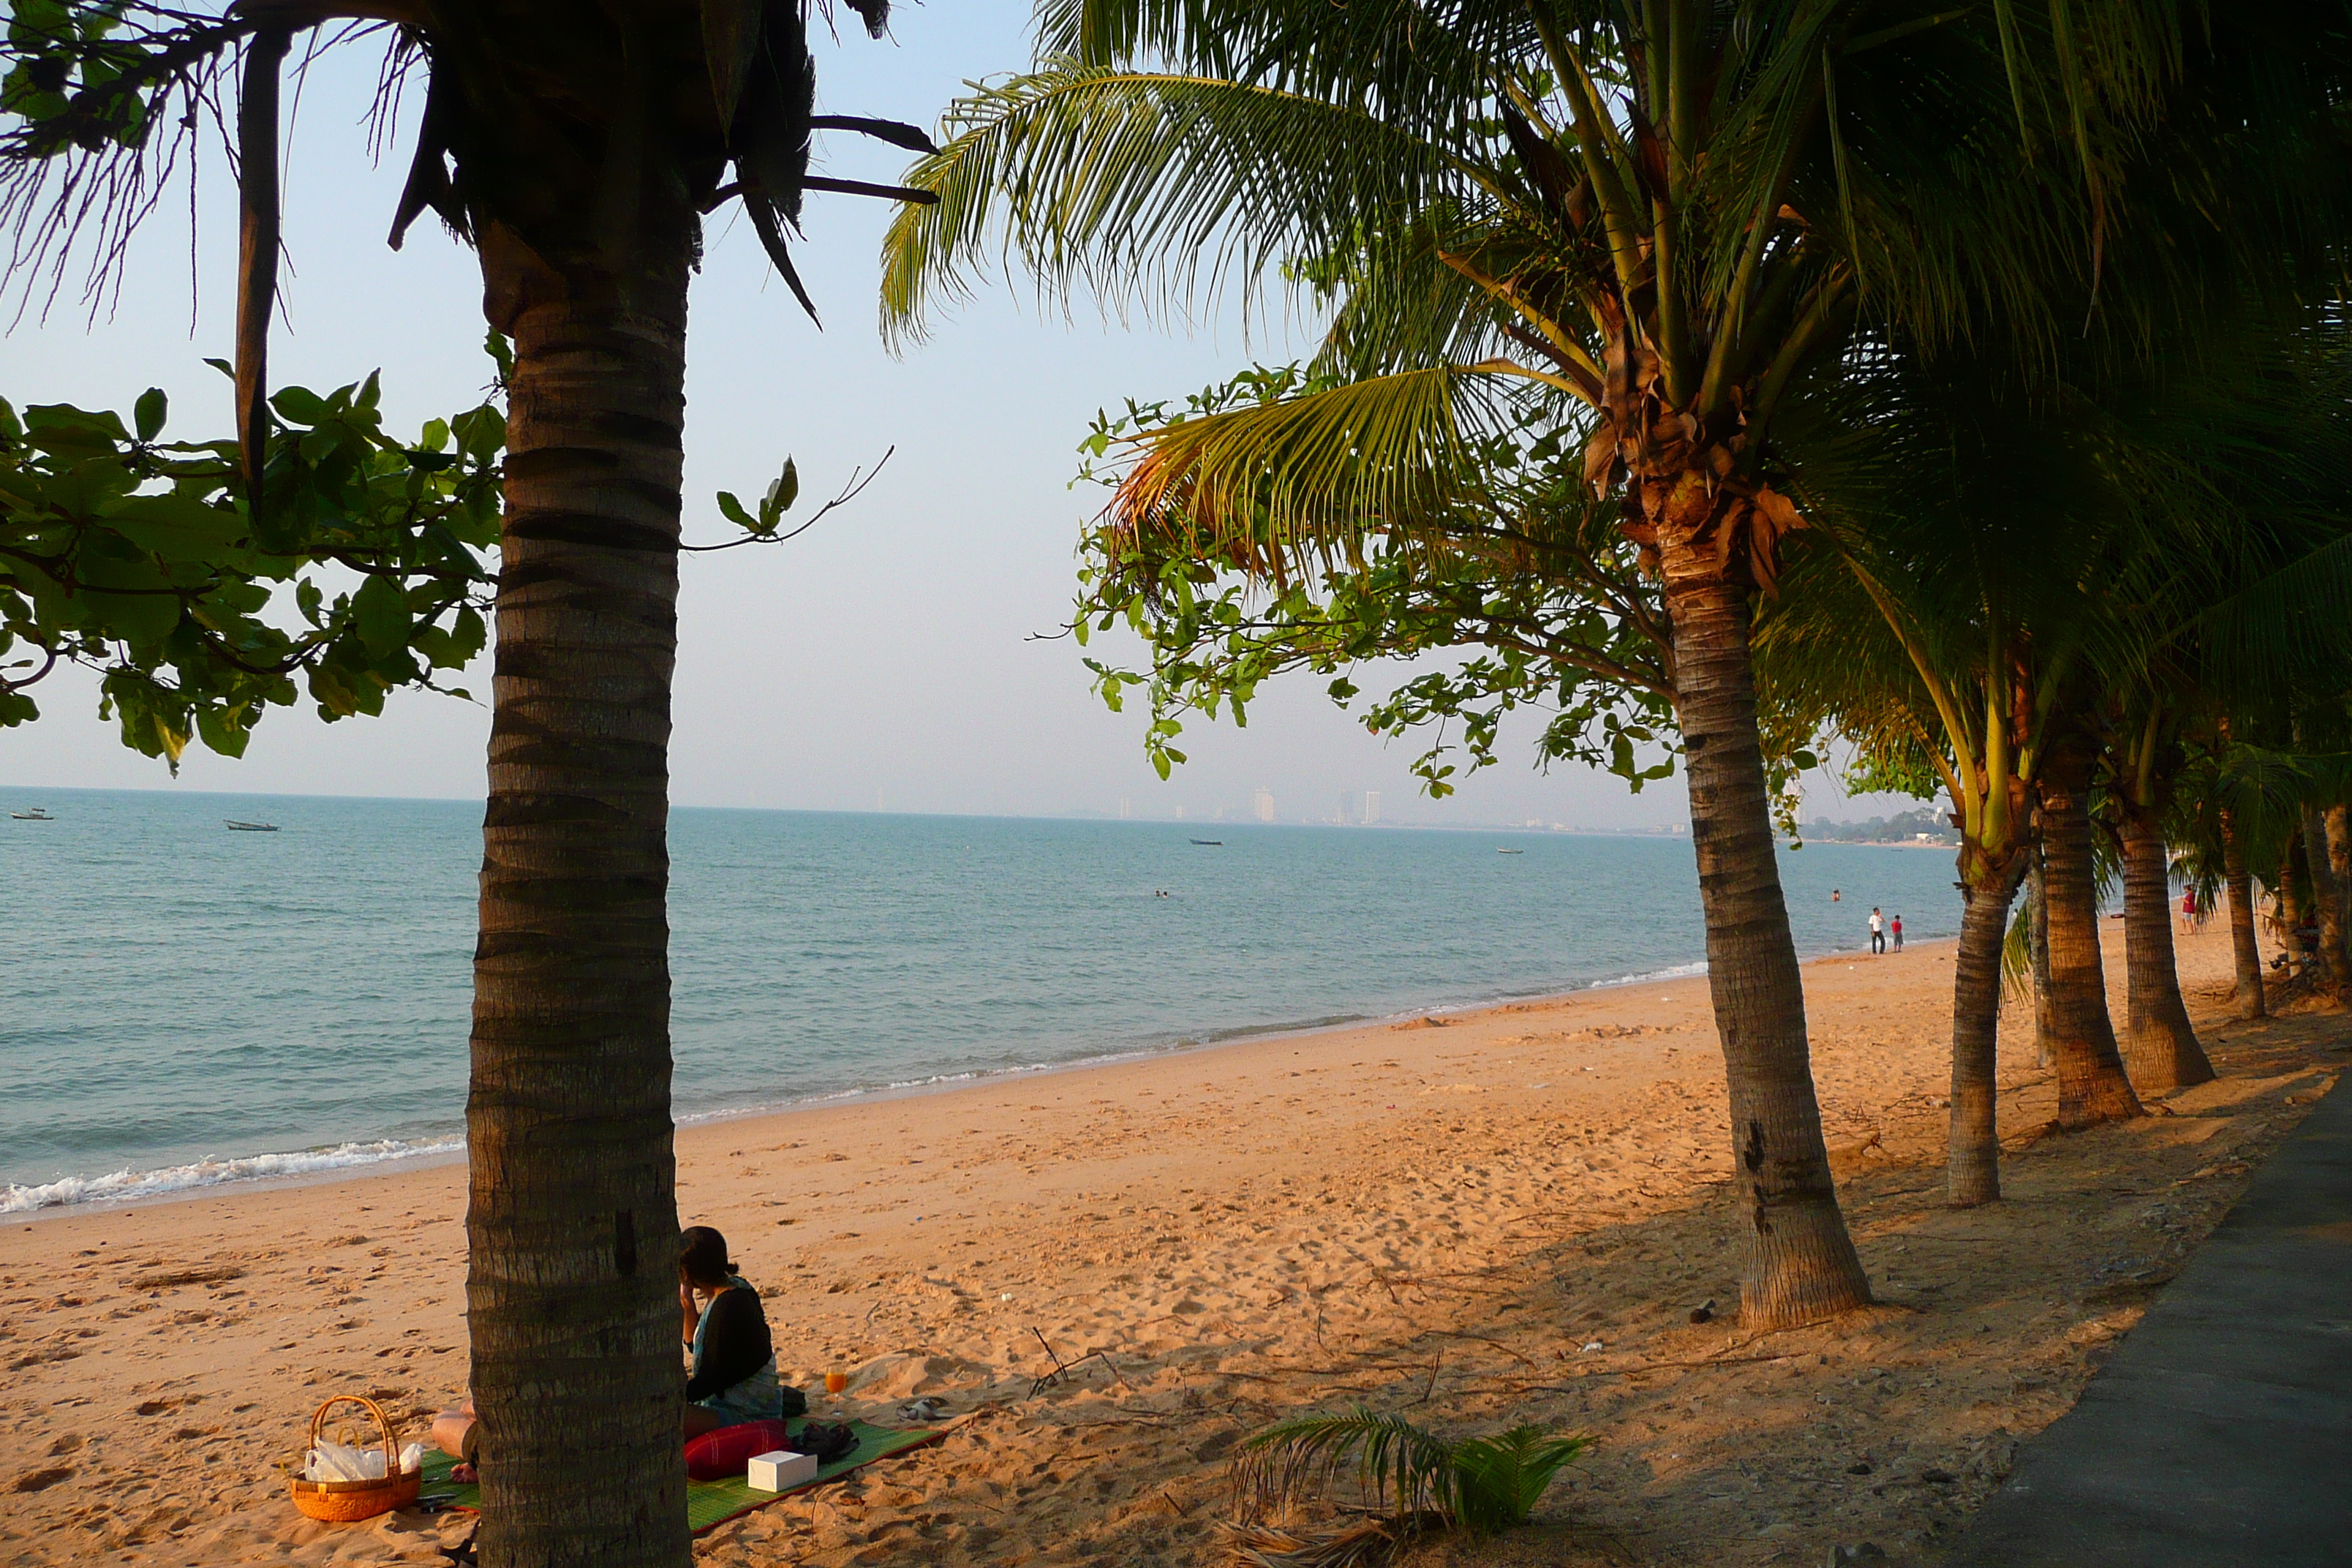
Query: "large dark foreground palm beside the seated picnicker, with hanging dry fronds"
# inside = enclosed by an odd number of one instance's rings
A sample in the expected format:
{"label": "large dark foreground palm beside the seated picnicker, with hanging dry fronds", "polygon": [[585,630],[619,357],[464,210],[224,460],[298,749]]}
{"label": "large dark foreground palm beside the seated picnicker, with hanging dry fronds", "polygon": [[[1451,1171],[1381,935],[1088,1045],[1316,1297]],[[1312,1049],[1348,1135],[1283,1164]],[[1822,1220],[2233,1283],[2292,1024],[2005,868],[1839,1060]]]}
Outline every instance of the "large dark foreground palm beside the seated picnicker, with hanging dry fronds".
{"label": "large dark foreground palm beside the seated picnicker, with hanging dry fronds", "polygon": [[[882,33],[887,0],[847,2]],[[252,0],[221,16],[52,0],[9,28],[0,221],[24,266],[64,266],[78,235],[118,256],[235,89],[256,527],[294,33],[388,42],[388,85],[428,75],[393,244],[437,214],[513,339],[466,1105],[492,1563],[689,1561],[666,952],[687,280],[703,214],[741,200],[807,303],[783,240],[802,193],[896,195],[809,176],[811,132],[929,146],[811,115],[809,21],[807,0]]]}

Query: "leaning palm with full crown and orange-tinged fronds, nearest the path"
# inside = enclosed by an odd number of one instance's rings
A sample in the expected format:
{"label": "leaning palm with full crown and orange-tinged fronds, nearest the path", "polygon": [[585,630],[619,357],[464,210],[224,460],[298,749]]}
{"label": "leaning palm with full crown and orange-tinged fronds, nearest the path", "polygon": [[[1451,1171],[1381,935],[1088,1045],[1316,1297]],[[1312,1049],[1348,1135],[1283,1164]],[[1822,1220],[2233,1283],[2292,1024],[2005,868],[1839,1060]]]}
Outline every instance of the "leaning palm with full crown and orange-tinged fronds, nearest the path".
{"label": "leaning palm with full crown and orange-tinged fronds, nearest the path", "polygon": [[[901,334],[1000,233],[1049,289],[1183,306],[1211,273],[1277,268],[1319,289],[1338,386],[1160,430],[1112,503],[1138,538],[1268,578],[1442,512],[1479,433],[1576,442],[1672,623],[1755,1324],[1867,1300],[1748,654],[1802,527],[1773,421],[1875,322],[1929,346],[1997,322],[2032,357],[2105,277],[2103,320],[2143,327],[2124,280],[2178,252],[2126,244],[2107,181],[2190,52],[2241,42],[2213,38],[2136,5],[1058,0],[1040,68],[950,110],[910,176],[941,202],[887,242]],[[2286,99],[2307,113],[2303,92],[2237,113]]]}

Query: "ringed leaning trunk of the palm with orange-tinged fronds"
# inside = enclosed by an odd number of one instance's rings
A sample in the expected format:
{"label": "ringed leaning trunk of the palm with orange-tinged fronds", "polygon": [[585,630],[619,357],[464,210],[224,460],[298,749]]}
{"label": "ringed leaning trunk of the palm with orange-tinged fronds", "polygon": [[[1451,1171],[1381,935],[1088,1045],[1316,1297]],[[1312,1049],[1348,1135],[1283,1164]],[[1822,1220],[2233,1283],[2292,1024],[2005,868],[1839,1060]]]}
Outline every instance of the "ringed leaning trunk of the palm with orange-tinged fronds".
{"label": "ringed leaning trunk of the palm with orange-tinged fronds", "polygon": [[[1696,477],[1693,477],[1696,484]],[[1804,978],[1780,896],[1757,741],[1748,590],[1708,548],[1663,548],[1675,710],[1691,783],[1691,849],[1708,922],[1708,992],[1731,1084],[1748,1262],[1740,1324],[1776,1328],[1870,1300],[1820,1135]]]}

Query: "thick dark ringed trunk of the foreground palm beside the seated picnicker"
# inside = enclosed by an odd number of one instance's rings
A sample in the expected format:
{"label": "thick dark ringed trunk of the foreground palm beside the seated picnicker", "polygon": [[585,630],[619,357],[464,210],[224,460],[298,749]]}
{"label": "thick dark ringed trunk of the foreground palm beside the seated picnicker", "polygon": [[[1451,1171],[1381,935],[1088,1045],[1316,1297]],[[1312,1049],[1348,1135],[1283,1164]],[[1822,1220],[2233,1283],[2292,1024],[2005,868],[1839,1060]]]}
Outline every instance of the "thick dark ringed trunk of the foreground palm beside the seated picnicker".
{"label": "thick dark ringed trunk of the foreground palm beside the seated picnicker", "polygon": [[496,322],[515,376],[466,1302],[501,1568],[691,1561],[666,914],[684,280],[680,254],[621,303],[541,268]]}

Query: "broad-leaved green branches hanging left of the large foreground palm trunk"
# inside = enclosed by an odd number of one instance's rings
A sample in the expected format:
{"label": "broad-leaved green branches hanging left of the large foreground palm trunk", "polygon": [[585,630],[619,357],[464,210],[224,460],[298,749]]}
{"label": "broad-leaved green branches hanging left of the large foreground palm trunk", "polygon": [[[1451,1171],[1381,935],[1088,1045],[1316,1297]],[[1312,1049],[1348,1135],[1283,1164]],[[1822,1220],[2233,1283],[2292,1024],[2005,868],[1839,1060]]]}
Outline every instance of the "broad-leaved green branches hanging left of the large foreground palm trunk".
{"label": "broad-leaved green branches hanging left of the large foreground palm trunk", "polygon": [[[242,757],[308,689],[322,719],[449,689],[482,651],[506,418],[494,404],[383,433],[376,378],[273,400],[254,520],[238,444],[165,442],[167,402],[0,402],[0,726],[40,717],[61,665],[101,675],[122,743],[174,766],[193,738]],[[463,696],[463,691],[459,691]]]}

